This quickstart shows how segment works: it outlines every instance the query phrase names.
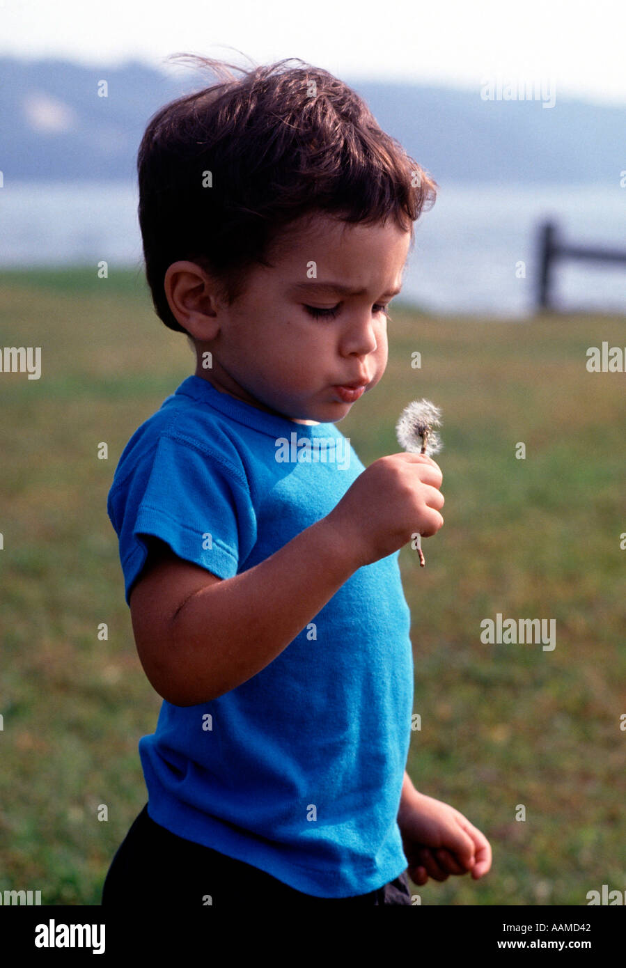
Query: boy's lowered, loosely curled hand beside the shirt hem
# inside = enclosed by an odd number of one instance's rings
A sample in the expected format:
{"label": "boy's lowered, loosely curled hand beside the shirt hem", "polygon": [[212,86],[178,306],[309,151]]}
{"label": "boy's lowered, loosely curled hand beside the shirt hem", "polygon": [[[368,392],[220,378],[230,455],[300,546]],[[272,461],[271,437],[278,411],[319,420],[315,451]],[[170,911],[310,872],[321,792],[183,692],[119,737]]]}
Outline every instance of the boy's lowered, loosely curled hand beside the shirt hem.
{"label": "boy's lowered, loosely curled hand beside the shirt hem", "polygon": [[429,877],[445,881],[450,874],[471,870],[474,880],[492,866],[492,848],[487,837],[448,803],[416,791],[402,803],[398,815],[402,849],[411,880],[420,886]]}

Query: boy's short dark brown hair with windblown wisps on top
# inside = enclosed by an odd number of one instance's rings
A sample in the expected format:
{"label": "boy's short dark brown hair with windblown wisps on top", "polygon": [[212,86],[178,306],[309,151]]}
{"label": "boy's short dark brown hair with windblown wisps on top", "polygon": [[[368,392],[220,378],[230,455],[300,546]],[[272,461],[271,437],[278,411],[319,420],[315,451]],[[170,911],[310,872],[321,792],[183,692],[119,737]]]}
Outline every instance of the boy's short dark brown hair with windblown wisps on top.
{"label": "boy's short dark brown hair with windblown wisps on top", "polygon": [[[146,278],[166,326],[185,331],[164,292],[172,262],[196,262],[231,304],[305,216],[366,225],[393,216],[413,244],[436,182],[343,81],[299,58],[244,71],[173,56],[219,80],[160,108],[137,155]],[[293,60],[303,67],[287,68]]]}

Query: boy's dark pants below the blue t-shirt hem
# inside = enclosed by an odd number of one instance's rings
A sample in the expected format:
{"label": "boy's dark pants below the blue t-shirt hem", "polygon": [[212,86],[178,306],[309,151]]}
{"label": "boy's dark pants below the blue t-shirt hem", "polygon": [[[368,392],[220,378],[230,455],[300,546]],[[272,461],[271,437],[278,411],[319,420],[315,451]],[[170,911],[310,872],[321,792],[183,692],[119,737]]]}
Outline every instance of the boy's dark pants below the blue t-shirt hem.
{"label": "boy's dark pants below the blue t-shirt hem", "polygon": [[165,830],[148,815],[147,803],[108,868],[102,903],[130,909],[143,904],[188,909],[214,904],[224,909],[241,907],[247,896],[254,907],[411,903],[406,871],[377,891],[353,897],[314,897],[296,891],[258,867]]}

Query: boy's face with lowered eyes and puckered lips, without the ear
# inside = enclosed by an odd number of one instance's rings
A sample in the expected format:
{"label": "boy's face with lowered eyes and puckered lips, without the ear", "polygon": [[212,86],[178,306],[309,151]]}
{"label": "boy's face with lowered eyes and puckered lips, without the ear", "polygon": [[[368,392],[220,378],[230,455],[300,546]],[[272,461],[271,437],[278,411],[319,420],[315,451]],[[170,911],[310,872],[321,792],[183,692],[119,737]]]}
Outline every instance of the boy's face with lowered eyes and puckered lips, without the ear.
{"label": "boy's face with lowered eyes and puckered lips, without the ear", "polygon": [[[384,310],[401,287],[409,243],[393,218],[383,227],[319,216],[290,236],[273,268],[253,269],[230,307],[212,304],[204,318],[212,338],[197,338],[205,330],[195,318],[195,376],[299,423],[342,420],[385,371]],[[212,369],[201,366],[205,349]],[[356,382],[365,390],[338,389]]]}

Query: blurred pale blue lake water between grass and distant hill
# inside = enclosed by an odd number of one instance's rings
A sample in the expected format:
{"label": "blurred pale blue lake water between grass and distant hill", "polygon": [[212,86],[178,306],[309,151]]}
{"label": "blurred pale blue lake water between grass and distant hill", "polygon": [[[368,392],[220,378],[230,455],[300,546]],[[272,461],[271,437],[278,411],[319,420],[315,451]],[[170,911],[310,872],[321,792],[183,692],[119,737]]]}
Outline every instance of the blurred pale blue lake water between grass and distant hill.
{"label": "blurred pale blue lake water between grass and distant hill", "polygon": [[[140,267],[136,208],[126,182],[5,182],[0,268]],[[415,223],[400,298],[433,313],[524,318],[535,305],[537,228],[549,217],[568,242],[626,250],[626,188],[617,178],[614,188],[444,184]],[[553,296],[564,311],[625,313],[626,266],[565,260]]]}

